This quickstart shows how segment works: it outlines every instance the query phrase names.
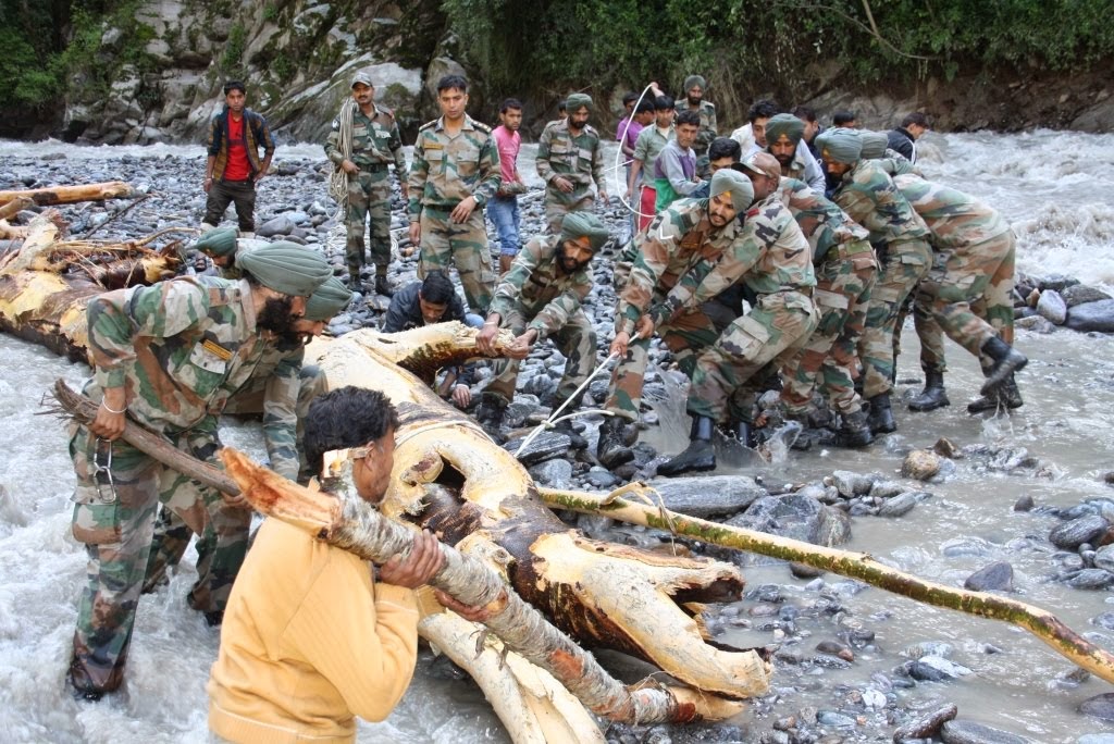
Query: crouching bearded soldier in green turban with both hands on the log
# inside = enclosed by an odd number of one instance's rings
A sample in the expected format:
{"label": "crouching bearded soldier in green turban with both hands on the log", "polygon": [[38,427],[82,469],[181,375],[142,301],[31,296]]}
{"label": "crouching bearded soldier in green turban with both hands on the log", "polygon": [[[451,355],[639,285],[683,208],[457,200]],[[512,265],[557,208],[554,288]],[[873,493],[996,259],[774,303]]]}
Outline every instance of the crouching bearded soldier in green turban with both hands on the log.
{"label": "crouching bearded soldier in green turban with both hands on the log", "polygon": [[[476,412],[485,428],[498,430],[507,404],[515,398],[519,360],[541,339],[553,336],[565,356],[565,374],[554,397],[554,410],[568,401],[592,373],[596,332],[580,303],[592,292],[588,263],[608,237],[598,217],[573,213],[565,215],[560,235],[536,237],[515,257],[496,288],[483,330],[476,339],[477,349],[491,354],[500,327],[510,329],[516,336],[510,359],[496,365]],[[568,421],[563,423],[571,428]]]}

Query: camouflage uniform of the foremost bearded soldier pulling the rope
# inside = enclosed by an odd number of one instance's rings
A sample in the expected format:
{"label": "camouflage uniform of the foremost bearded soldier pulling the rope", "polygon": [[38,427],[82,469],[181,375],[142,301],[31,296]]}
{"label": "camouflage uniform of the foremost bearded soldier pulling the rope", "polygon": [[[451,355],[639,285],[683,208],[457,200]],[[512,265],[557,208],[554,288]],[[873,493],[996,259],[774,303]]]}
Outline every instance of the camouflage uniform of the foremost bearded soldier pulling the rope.
{"label": "camouflage uniform of the foremost bearded soldier pulling the rope", "polygon": [[713,227],[707,217],[707,199],[674,202],[627,246],[631,272],[618,293],[615,331],[626,331],[632,339],[626,356],[612,373],[604,408],[629,421],[638,419],[648,363],[649,339],[633,337],[635,324],[643,314],[652,314],[662,342],[690,376],[697,352],[720,335],[712,317],[702,307],[704,300],[719,293],[692,303],[686,307],[688,312],[675,314],[672,320],[664,304],[670,291],[697,261],[714,263],[742,229],[735,219],[722,228]]}

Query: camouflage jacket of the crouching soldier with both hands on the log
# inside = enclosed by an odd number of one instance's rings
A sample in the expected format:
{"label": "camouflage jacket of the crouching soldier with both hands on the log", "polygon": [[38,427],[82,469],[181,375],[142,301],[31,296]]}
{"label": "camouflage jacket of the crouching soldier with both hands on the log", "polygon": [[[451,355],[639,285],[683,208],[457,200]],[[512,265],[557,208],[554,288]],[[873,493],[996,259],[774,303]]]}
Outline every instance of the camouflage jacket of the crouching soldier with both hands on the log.
{"label": "camouflage jacket of the crouching soldier with both hands on the log", "polygon": [[526,327],[536,329],[538,339],[563,329],[592,292],[592,277],[585,268],[566,274],[557,261],[559,246],[559,235],[527,243],[496,287],[490,312],[507,317],[520,307],[530,319]]}

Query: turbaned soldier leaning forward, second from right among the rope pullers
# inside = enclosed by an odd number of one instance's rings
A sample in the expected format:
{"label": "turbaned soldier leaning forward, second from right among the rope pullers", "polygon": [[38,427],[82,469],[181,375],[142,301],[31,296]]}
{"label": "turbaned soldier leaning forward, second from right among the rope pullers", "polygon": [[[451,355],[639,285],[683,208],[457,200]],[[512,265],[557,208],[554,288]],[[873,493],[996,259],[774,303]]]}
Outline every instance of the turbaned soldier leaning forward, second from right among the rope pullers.
{"label": "turbaned soldier leaning forward, second from right among the rope pullers", "polygon": [[893,389],[893,333],[909,293],[932,265],[928,226],[893,185],[877,160],[862,157],[862,139],[854,129],[829,129],[817,136],[828,173],[839,178],[833,199],[870,233],[870,242],[883,245],[886,257],[867,309],[867,327],[859,343],[870,401],[869,423],[873,433],[897,431],[890,410]]}

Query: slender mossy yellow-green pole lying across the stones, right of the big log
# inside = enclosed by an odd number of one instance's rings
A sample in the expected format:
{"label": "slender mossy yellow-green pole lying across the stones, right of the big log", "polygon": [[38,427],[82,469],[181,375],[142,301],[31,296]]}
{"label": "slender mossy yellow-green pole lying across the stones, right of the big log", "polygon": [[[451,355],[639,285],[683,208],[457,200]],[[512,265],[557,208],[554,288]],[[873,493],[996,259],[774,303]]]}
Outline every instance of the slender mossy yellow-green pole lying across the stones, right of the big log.
{"label": "slender mossy yellow-green pole lying across the stones, right of the big log", "polygon": [[[538,489],[538,492],[547,505],[557,509],[608,517],[633,525],[667,530],[673,535],[690,537],[710,545],[805,564],[840,576],[860,579],[871,586],[910,597],[926,605],[946,607],[976,617],[1005,620],[1029,630],[1073,664],[1106,682],[1114,683],[1114,654],[1091,643],[1048,610],[1016,599],[926,581],[911,574],[883,566],[863,552],[825,548],[743,527],[686,517],[654,505],[651,497],[653,489],[641,484],[625,487],[610,495],[546,488]],[[623,498],[624,493],[638,496],[649,503],[638,503]]]}

